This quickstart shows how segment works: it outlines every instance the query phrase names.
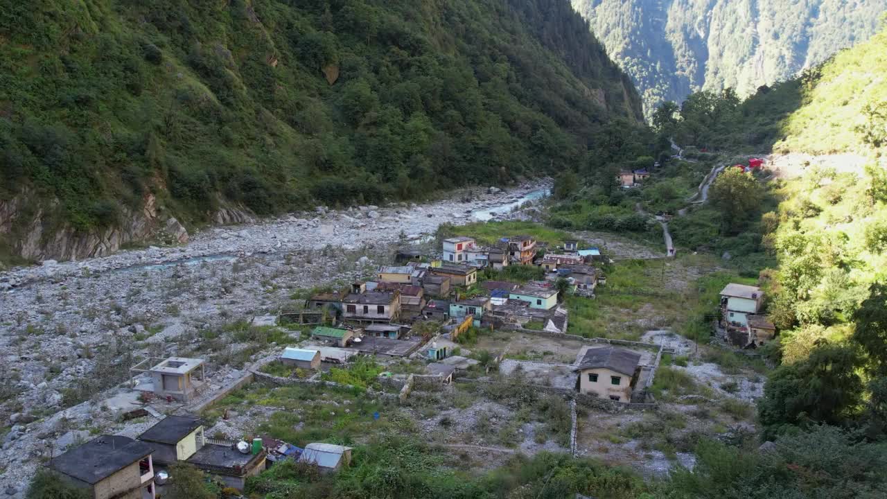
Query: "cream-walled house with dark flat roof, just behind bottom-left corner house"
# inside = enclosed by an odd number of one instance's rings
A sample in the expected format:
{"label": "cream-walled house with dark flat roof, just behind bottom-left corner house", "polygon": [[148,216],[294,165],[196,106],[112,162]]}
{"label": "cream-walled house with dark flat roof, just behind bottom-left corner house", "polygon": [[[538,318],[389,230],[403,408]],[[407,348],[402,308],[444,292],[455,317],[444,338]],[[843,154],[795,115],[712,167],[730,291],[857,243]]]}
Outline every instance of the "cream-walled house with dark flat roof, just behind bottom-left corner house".
{"label": "cream-walled house with dark flat roof, just behind bottom-left corner house", "polygon": [[153,447],[155,463],[185,461],[203,447],[203,422],[190,416],[166,416],[139,435],[138,440]]}

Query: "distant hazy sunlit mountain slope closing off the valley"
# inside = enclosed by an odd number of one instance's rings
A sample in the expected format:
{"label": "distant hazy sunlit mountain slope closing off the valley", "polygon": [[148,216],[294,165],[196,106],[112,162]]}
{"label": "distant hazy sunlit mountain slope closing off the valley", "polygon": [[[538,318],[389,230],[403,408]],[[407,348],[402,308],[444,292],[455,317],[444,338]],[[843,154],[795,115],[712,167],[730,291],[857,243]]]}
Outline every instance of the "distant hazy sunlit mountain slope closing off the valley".
{"label": "distant hazy sunlit mountain slope closing off the valley", "polygon": [[875,33],[885,0],[571,0],[648,113],[692,91],[742,97]]}

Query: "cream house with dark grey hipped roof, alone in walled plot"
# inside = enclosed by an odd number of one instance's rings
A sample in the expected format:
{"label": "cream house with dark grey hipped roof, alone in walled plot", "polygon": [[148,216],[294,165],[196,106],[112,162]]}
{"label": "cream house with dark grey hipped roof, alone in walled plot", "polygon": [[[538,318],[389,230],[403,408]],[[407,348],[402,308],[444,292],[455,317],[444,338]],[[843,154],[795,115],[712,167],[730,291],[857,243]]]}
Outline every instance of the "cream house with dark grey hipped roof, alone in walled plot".
{"label": "cream house with dark grey hipped roof, alone in walled plot", "polygon": [[574,372],[579,373],[580,393],[608,397],[617,402],[632,400],[640,353],[616,346],[589,348]]}

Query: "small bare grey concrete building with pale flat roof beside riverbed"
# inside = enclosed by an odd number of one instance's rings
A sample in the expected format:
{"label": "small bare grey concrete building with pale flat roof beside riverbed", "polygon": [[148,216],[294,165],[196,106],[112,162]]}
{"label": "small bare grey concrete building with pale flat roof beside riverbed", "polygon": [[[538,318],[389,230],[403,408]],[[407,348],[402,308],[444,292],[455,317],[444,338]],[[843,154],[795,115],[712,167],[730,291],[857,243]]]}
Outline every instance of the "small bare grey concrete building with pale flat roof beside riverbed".
{"label": "small bare grey concrete building with pale flat roof beside riverbed", "polygon": [[[151,368],[146,365],[161,362]],[[147,373],[151,383],[137,384],[136,390],[153,392],[158,397],[183,402],[192,400],[206,386],[206,366],[203,359],[170,357],[169,359],[149,358],[130,368],[130,373]],[[131,380],[130,380],[131,381]]]}

